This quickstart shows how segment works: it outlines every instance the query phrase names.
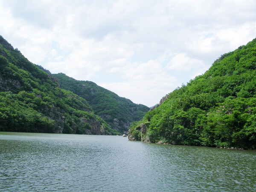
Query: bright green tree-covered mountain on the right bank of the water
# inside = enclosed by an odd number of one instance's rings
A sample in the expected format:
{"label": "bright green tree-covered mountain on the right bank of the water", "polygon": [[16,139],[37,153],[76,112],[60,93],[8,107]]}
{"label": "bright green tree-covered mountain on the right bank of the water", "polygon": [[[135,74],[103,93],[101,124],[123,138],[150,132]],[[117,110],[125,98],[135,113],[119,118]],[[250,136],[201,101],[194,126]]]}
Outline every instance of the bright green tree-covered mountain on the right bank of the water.
{"label": "bright green tree-covered mountain on the right bank of the water", "polygon": [[256,148],[256,39],[221,55],[128,131],[130,140]]}

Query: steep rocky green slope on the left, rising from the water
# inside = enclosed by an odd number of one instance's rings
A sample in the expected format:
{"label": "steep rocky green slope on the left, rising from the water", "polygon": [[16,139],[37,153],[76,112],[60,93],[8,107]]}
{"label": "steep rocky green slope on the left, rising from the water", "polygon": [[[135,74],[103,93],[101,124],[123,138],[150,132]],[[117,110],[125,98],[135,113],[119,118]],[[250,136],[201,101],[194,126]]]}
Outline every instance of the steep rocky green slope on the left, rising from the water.
{"label": "steep rocky green slope on the left, rising from the water", "polygon": [[0,36],[0,131],[117,134]]}

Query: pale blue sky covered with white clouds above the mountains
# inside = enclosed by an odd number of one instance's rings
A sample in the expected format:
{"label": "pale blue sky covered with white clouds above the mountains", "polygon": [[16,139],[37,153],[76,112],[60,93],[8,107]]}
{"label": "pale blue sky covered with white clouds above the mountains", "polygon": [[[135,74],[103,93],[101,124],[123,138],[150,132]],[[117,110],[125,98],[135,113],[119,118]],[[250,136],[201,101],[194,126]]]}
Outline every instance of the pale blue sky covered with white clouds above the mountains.
{"label": "pale blue sky covered with white clouds above the mountains", "polygon": [[0,35],[51,73],[154,106],[256,38],[255,0],[0,0]]}

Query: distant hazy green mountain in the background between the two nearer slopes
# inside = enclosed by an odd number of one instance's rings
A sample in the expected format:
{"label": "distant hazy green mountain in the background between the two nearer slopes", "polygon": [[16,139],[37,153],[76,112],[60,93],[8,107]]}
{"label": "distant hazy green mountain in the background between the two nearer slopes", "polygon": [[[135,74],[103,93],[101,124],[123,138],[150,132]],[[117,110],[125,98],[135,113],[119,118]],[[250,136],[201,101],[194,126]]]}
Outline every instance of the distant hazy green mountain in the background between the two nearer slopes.
{"label": "distant hazy green mountain in the background between the two nearer slopes", "polygon": [[61,88],[87,100],[96,115],[120,133],[127,132],[131,123],[140,120],[149,110],[149,107],[119,97],[91,81],[75,80],[63,73],[52,76],[58,79]]}

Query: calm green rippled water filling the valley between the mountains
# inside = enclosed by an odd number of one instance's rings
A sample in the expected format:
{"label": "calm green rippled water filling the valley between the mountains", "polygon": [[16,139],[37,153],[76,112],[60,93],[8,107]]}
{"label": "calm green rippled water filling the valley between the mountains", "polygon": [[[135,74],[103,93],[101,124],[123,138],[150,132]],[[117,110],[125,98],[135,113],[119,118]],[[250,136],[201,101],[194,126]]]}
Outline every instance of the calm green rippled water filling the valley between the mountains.
{"label": "calm green rippled water filling the valley between the mountains", "polygon": [[255,151],[0,132],[0,191],[255,190]]}

